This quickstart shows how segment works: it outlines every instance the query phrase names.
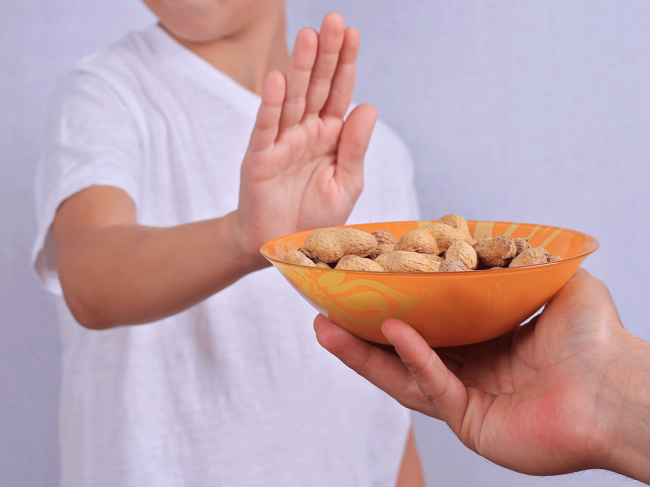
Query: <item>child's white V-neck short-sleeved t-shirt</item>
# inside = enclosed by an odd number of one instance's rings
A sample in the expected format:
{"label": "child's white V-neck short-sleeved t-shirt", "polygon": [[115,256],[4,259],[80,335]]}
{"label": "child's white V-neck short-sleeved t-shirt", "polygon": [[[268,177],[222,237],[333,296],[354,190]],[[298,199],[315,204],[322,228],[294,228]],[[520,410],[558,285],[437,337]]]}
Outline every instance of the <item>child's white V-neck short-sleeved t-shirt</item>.
{"label": "child's white V-neck short-sleeved t-shirt", "polygon": [[[160,322],[91,331],[63,298],[50,225],[91,185],[138,221],[237,208],[260,98],[162,28],[83,59],[58,84],[36,177],[34,266],[57,295],[62,487],[392,487],[409,412],[318,345],[316,311],[273,268]],[[381,122],[349,222],[417,219],[412,164]]]}

